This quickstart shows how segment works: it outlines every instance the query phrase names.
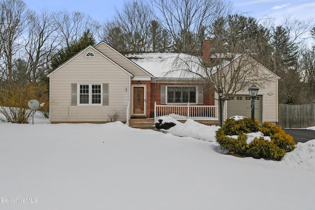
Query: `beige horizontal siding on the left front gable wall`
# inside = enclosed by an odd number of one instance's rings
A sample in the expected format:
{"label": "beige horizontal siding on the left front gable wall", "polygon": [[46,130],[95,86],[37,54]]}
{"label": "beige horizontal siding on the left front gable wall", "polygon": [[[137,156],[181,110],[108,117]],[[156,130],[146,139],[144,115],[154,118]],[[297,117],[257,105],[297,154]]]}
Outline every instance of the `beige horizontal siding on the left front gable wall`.
{"label": "beige horizontal siding on the left front gable wall", "polygon": [[[119,111],[118,120],[126,121],[130,75],[97,51],[93,52],[95,54],[93,59],[85,57],[87,52],[91,52],[91,49],[80,53],[50,75],[51,122],[104,122],[109,120],[108,115],[113,110]],[[95,106],[74,104],[73,96],[79,92],[72,91],[73,84],[77,86],[102,84],[102,104]],[[108,97],[107,100],[104,100],[105,95]]]}

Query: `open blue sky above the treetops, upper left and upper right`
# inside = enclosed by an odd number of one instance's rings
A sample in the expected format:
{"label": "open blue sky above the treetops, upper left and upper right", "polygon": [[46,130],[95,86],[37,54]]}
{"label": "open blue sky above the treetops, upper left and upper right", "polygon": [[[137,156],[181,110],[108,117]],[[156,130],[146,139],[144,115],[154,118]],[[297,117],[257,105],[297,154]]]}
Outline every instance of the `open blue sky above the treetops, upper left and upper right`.
{"label": "open blue sky above the treetops, upper left and upper right", "polygon": [[[111,19],[115,8],[121,8],[124,0],[24,0],[32,10],[46,8],[50,11],[68,10],[80,11],[93,19],[103,22]],[[272,17],[283,20],[284,15],[306,20],[314,17],[315,0],[231,0],[235,10],[249,12],[257,19]]]}

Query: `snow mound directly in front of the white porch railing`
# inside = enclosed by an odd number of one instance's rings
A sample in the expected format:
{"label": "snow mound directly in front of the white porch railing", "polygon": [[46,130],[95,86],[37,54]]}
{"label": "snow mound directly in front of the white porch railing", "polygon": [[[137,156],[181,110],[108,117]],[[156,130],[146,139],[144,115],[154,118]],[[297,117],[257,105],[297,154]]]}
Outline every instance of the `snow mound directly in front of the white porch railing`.
{"label": "snow mound directly in front of the white porch railing", "polygon": [[168,130],[165,130],[176,136],[188,136],[195,139],[201,139],[205,141],[216,141],[216,131],[219,126],[208,126],[200,124],[194,120],[188,119],[185,123],[179,122],[171,117],[159,118],[163,123],[173,122],[176,125]]}

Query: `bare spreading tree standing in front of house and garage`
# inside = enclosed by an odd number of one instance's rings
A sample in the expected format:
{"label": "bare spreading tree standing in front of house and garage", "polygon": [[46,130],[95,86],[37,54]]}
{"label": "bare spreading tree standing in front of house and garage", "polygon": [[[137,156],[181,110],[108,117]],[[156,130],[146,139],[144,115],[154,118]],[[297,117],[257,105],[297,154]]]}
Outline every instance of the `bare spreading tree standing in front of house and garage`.
{"label": "bare spreading tree standing in front of house and garage", "polygon": [[[261,53],[261,47],[266,43],[266,30],[256,27],[256,30],[244,31],[248,19],[237,22],[229,17],[227,14],[214,22],[202,54],[196,54],[195,47],[191,46],[189,53],[177,56],[174,70],[169,72],[179,71],[182,77],[203,80],[210,94],[221,89],[223,104],[252,84],[262,88],[276,80],[274,74],[252,58]],[[256,25],[252,19],[249,21]]]}

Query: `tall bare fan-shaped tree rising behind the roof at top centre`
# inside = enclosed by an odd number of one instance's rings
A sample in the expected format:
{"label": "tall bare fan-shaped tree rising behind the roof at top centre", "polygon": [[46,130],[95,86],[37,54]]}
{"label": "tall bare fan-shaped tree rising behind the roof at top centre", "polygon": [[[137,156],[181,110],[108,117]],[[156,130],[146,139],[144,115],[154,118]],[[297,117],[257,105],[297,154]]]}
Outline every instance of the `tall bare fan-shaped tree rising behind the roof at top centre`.
{"label": "tall bare fan-shaped tree rising behind the roof at top centre", "polygon": [[200,50],[205,30],[231,8],[224,0],[153,0],[153,6],[156,19],[171,35],[178,52]]}

